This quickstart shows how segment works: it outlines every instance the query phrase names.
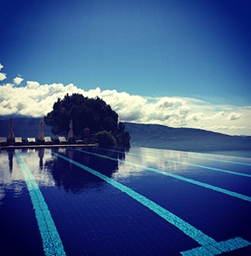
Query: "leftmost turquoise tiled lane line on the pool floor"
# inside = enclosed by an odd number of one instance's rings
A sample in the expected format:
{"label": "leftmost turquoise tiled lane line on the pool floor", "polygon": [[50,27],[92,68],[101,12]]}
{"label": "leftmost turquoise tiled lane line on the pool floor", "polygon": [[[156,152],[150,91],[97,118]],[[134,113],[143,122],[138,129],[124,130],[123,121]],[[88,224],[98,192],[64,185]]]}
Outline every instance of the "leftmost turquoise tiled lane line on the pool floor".
{"label": "leftmost turquoise tiled lane line on the pool floor", "polygon": [[25,163],[18,149],[15,149],[15,154],[21,170],[23,171],[23,176],[28,187],[28,193],[33,203],[33,209],[35,210],[35,215],[38,221],[38,228],[43,240],[45,255],[66,255],[57,227],[54,224],[53,217],[49,212],[49,208],[44,201],[44,196],[42,195],[36,180],[34,180],[31,171],[28,169],[28,165]]}

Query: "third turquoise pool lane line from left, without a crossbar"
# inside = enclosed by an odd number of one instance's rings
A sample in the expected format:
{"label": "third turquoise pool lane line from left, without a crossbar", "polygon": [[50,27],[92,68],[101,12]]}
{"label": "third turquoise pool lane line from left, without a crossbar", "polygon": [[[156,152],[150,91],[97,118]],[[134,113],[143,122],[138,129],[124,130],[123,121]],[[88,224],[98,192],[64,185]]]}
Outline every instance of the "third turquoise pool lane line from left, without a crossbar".
{"label": "third turquoise pool lane line from left, without a crossbar", "polygon": [[[74,149],[74,148],[70,148],[70,149]],[[85,153],[93,154],[93,155],[96,155],[96,156],[99,156],[99,157],[102,157],[102,158],[105,158],[105,159],[110,159],[110,160],[114,160],[114,161],[117,161],[117,162],[121,162],[121,163],[124,163],[126,165],[133,165],[133,166],[145,169],[145,170],[151,170],[151,171],[154,171],[154,172],[156,172],[158,174],[161,174],[161,175],[171,176],[172,178],[175,178],[175,179],[178,179],[178,180],[183,180],[183,181],[186,181],[188,183],[192,183],[194,185],[200,185],[200,186],[202,186],[206,189],[210,189],[210,190],[213,190],[213,191],[218,191],[218,192],[226,194],[228,196],[237,197],[238,199],[242,199],[244,201],[250,201],[251,202],[251,197],[250,196],[245,196],[245,195],[239,194],[237,192],[228,191],[228,190],[225,190],[225,189],[220,188],[218,186],[209,185],[207,183],[203,183],[203,182],[200,182],[200,181],[197,181],[197,180],[188,179],[188,178],[182,177],[180,175],[173,175],[173,174],[168,173],[168,172],[163,171],[163,170],[157,170],[155,168],[147,167],[147,166],[144,166],[144,165],[138,165],[138,164],[135,164],[135,163],[127,162],[127,161],[122,160],[122,159],[115,159],[115,158],[112,158],[110,156],[106,156],[106,155],[103,155],[103,154],[96,154],[96,153],[92,153],[92,152],[88,152],[88,151],[80,150],[80,149],[74,149],[74,150],[82,152],[84,154]]]}

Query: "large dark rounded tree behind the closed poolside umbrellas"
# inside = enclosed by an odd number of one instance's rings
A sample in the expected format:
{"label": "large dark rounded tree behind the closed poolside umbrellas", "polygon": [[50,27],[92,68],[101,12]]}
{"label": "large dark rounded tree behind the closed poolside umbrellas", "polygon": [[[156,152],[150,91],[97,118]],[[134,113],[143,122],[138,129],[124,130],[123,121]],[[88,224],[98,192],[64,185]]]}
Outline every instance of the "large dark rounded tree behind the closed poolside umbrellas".
{"label": "large dark rounded tree behind the closed poolside umbrellas", "polygon": [[83,136],[85,127],[90,128],[90,133],[105,130],[116,138],[118,145],[130,146],[130,134],[125,132],[125,125],[118,124],[118,114],[99,97],[66,94],[64,99],[59,98],[54,103],[53,111],[44,117],[44,122],[52,126],[51,131],[55,135],[67,136],[70,119],[73,120],[76,136]]}

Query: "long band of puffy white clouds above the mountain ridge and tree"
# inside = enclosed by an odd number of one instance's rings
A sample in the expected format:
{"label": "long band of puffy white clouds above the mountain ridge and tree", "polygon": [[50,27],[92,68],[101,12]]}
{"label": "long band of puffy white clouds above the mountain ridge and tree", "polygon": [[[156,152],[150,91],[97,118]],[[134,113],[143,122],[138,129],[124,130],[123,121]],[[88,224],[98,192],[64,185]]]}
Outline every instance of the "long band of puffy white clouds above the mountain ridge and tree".
{"label": "long band of puffy white clouds above the mountain ridge and tree", "polygon": [[[16,85],[20,81],[17,78],[13,80]],[[99,87],[84,91],[73,84],[40,85],[38,81],[27,81],[26,86],[21,87],[15,84],[0,86],[0,115],[19,114],[40,118],[51,112],[54,102],[64,98],[66,93],[81,93],[85,97],[104,99],[119,114],[122,122],[158,123],[251,135],[251,107],[216,106],[194,98],[141,97],[125,91],[101,91]]]}

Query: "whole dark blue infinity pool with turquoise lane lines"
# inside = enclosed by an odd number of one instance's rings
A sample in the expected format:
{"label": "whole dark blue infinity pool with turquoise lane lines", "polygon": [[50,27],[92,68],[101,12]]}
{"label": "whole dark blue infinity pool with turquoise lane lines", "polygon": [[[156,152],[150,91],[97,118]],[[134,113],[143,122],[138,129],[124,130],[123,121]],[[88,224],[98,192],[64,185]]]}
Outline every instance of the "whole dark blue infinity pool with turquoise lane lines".
{"label": "whole dark blue infinity pool with turquoise lane lines", "polygon": [[251,255],[251,159],[0,151],[1,255]]}

